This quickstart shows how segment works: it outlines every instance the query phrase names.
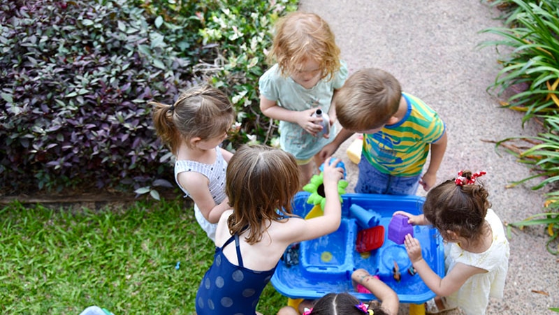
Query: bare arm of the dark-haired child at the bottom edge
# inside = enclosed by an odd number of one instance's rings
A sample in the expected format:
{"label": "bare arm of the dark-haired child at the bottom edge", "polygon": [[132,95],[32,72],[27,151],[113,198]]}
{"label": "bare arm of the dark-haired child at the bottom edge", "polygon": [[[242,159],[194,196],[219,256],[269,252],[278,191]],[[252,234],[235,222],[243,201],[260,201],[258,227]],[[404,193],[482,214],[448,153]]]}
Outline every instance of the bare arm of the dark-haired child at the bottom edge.
{"label": "bare arm of the dark-haired child at the bottom edge", "polygon": [[367,288],[373,295],[381,300],[381,307],[391,315],[398,314],[400,299],[390,286],[387,286],[378,277],[373,277],[367,270],[358,269],[351,274],[351,279]]}

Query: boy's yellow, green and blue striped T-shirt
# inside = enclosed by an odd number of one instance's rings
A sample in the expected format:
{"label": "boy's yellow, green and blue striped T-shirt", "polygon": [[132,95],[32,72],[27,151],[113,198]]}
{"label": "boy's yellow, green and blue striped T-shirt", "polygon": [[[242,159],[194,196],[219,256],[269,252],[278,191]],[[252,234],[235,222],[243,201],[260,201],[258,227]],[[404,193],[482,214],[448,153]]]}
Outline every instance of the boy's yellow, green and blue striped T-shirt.
{"label": "boy's yellow, green and blue striped T-shirt", "polygon": [[444,134],[437,112],[419,98],[402,93],[407,112],[400,122],[363,135],[363,156],[382,173],[395,176],[421,174],[430,143]]}

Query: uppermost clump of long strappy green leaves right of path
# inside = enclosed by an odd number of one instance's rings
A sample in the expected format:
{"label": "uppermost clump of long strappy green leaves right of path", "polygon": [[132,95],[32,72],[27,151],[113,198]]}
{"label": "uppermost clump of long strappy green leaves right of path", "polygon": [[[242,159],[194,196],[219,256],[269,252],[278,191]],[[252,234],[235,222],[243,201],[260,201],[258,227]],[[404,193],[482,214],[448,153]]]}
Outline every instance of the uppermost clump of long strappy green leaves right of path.
{"label": "uppermost clump of long strappy green leaves right of path", "polygon": [[486,41],[482,47],[511,48],[490,89],[502,95],[509,88],[525,85],[525,90],[510,96],[502,105],[524,111],[523,124],[535,115],[551,115],[559,106],[559,10],[558,1],[511,0],[517,8],[507,18],[507,27],[493,27],[482,32],[502,39]]}

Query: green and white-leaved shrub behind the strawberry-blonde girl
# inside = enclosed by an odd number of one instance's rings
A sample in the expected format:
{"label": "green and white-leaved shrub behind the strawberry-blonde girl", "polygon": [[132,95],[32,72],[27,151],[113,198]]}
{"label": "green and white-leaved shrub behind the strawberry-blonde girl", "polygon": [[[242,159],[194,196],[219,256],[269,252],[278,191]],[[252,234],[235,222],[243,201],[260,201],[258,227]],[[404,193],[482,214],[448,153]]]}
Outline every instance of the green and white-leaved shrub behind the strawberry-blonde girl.
{"label": "green and white-leaved shrub behind the strawberry-blonde girl", "polygon": [[[242,123],[230,140],[233,145],[260,142],[273,145],[277,126],[261,115],[258,80],[266,71],[266,50],[272,43],[272,27],[279,15],[297,9],[298,1],[218,1],[219,9],[210,12],[199,34],[204,43],[219,42],[217,56],[205,65],[213,70],[213,85],[231,95]],[[271,4],[270,4],[271,3]]]}

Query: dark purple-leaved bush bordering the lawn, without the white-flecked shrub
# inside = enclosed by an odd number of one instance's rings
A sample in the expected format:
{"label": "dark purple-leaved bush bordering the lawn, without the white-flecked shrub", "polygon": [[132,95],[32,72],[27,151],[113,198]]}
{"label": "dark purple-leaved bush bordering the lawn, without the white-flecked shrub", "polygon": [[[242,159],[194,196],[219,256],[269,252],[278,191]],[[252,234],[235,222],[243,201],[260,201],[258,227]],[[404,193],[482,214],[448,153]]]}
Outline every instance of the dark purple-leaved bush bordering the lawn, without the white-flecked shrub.
{"label": "dark purple-leaved bush bordering the lawn, without the white-flecked shrub", "polygon": [[172,98],[195,76],[142,8],[8,1],[0,25],[1,191],[172,180],[147,101]]}

